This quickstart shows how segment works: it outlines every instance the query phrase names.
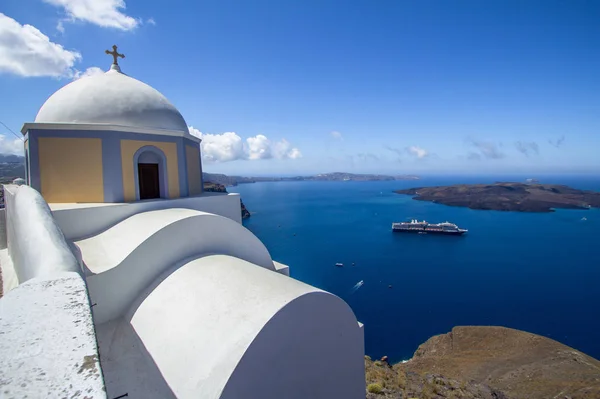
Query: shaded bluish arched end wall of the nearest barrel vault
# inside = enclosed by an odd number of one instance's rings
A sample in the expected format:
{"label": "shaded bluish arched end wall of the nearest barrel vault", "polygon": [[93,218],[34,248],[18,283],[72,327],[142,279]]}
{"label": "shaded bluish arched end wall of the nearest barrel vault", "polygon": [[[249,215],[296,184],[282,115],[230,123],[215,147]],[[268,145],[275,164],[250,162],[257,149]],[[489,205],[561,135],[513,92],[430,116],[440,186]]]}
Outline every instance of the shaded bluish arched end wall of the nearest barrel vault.
{"label": "shaded bluish arched end wall of the nearest barrel vault", "polygon": [[220,399],[364,398],[364,335],[327,292],[296,298],[268,321],[237,364]]}

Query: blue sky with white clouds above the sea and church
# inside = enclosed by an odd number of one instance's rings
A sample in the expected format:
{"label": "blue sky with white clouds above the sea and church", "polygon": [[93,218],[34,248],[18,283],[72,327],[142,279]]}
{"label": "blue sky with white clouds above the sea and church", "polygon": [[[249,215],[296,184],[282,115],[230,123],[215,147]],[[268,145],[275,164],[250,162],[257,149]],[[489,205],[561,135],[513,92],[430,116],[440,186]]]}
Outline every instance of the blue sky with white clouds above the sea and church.
{"label": "blue sky with white clouds above the sea and church", "polygon": [[0,121],[16,132],[117,44],[123,71],[202,132],[206,171],[600,172],[598,1],[2,0],[0,13]]}

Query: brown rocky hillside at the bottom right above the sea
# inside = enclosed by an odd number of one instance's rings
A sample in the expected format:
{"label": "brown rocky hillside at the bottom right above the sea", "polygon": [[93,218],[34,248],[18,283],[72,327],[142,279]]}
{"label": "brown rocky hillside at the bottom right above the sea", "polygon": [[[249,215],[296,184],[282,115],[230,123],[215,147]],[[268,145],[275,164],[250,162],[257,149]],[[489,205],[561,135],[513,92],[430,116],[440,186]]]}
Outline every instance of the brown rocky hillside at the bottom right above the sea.
{"label": "brown rocky hillside at the bottom right above the sea", "polygon": [[[598,399],[600,362],[552,339],[504,327],[455,327],[406,363],[365,360],[367,397]],[[370,395],[370,396],[369,396]]]}

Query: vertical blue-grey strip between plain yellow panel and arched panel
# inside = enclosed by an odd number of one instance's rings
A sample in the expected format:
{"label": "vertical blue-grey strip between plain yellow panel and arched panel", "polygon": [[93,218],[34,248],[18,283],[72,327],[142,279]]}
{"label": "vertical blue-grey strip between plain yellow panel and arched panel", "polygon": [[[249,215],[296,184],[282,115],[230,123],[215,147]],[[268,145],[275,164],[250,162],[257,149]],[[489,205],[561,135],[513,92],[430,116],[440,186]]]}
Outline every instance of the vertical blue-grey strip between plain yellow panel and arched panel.
{"label": "vertical blue-grey strip between plain yellow panel and arched panel", "polygon": [[102,181],[104,202],[123,202],[123,165],[121,139],[116,136],[102,138]]}

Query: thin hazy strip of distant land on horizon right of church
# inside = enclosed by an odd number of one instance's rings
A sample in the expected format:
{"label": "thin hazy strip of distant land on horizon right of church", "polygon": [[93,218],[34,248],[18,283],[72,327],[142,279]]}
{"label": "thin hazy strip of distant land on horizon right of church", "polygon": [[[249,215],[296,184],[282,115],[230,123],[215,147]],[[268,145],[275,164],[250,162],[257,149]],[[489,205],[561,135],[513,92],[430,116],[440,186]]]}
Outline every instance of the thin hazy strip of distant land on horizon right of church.
{"label": "thin hazy strip of distant land on horizon right of church", "polygon": [[276,182],[276,181],[393,181],[393,180],[419,180],[419,176],[414,175],[370,175],[354,174],[345,172],[322,173],[312,176],[294,176],[294,177],[244,177],[227,176],[218,173],[202,173],[205,181],[223,184],[224,186],[237,186],[245,183],[258,182]]}

